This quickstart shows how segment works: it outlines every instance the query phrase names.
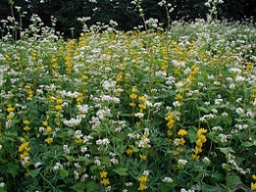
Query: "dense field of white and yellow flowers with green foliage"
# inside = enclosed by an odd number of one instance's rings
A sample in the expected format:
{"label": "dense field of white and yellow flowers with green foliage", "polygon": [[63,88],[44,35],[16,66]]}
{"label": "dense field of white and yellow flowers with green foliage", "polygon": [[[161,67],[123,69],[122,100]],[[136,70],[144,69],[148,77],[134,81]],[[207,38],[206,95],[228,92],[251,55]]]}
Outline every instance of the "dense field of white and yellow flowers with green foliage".
{"label": "dense field of white and yellow flowers with green foliage", "polygon": [[253,24],[33,18],[0,41],[0,191],[256,190],[255,64]]}

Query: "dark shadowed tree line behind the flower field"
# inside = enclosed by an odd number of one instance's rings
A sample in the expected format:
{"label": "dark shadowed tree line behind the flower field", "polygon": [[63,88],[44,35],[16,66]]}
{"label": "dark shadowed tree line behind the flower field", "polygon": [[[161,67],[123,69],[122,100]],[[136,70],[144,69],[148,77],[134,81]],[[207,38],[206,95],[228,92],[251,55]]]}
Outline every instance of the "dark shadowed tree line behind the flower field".
{"label": "dark shadowed tree line behind the flower field", "polygon": [[[10,0],[0,1],[0,20],[11,16]],[[206,0],[166,0],[171,3],[174,11],[171,19],[193,21],[197,18],[205,19],[209,10],[205,6]],[[15,0],[14,6],[22,7],[27,15],[24,26],[29,24],[32,14],[37,14],[44,24],[50,25],[50,18],[57,19],[56,29],[71,36],[72,27],[75,27],[75,36],[81,29],[77,18],[90,17],[88,24],[101,22],[109,24],[110,20],[116,21],[118,29],[129,30],[133,26],[143,24],[139,12],[131,0]],[[145,19],[155,18],[160,23],[167,25],[167,14],[164,7],[160,7],[160,0],[141,0]],[[16,17],[19,17],[16,13]],[[255,0],[224,0],[218,6],[218,18],[229,21],[244,21],[245,19],[256,19]]]}

